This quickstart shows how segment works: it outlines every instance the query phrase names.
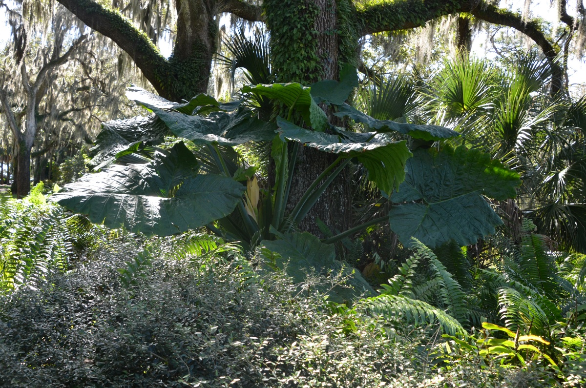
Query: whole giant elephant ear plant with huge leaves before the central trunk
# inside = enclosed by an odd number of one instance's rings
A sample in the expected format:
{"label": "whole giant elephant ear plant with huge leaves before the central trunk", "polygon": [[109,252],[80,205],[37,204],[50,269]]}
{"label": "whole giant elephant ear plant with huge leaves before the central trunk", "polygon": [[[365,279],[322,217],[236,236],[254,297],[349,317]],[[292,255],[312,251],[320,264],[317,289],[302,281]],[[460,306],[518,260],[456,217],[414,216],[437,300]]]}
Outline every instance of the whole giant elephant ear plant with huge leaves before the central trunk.
{"label": "whole giant elephant ear plant with huge leaves before the central trunk", "polygon": [[[318,271],[342,266],[328,244],[379,222],[390,221],[407,245],[411,237],[432,247],[448,240],[468,244],[492,233],[501,221],[485,197],[512,198],[519,176],[479,151],[441,147],[443,139],[458,132],[376,120],[347,105],[357,86],[356,69],[346,66],[340,74],[340,81],[319,81],[311,87],[246,86],[241,90],[243,100],[228,104],[205,94],[172,103],[132,87],[128,97],[154,115],[105,123],[92,155],[93,165],[102,170],[66,185],[52,199],[87,214],[93,222],[147,235],[168,236],[207,226],[246,248],[267,247],[280,257],[273,257],[275,266],[285,267],[284,260],[290,260],[289,271],[297,280],[300,266]],[[287,118],[260,120],[255,111],[258,101],[281,107]],[[318,103],[330,105],[335,115],[350,118],[369,132],[335,127]],[[168,134],[179,142],[170,149],[159,148]],[[437,142],[440,150],[412,152],[407,147],[410,138]],[[189,141],[191,148],[182,141]],[[236,155],[233,147],[246,142],[272,142],[277,183],[262,198],[254,179],[246,177],[251,177],[251,169],[244,171],[231,157]],[[337,157],[286,212],[300,146]],[[389,215],[323,241],[296,232],[295,225],[350,162],[362,165],[369,180],[396,203]],[[319,258],[307,247],[328,254]],[[316,261],[325,258],[323,263]],[[363,281],[355,283],[367,288]]]}

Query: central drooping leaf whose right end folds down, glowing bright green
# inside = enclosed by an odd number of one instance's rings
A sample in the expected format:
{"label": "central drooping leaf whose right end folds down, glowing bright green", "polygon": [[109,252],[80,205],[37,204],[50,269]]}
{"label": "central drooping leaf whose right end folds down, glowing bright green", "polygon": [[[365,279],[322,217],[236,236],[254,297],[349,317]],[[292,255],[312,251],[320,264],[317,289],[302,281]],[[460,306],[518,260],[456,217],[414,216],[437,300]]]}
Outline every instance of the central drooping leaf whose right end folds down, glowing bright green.
{"label": "central drooping leaf whose right end folds down, glowing bright green", "polygon": [[407,159],[413,155],[406,141],[394,142],[385,134],[341,132],[339,135],[331,135],[306,130],[280,117],[277,118],[277,124],[281,138],[343,158],[357,158],[368,170],[369,179],[387,193],[393,192],[403,182]]}

